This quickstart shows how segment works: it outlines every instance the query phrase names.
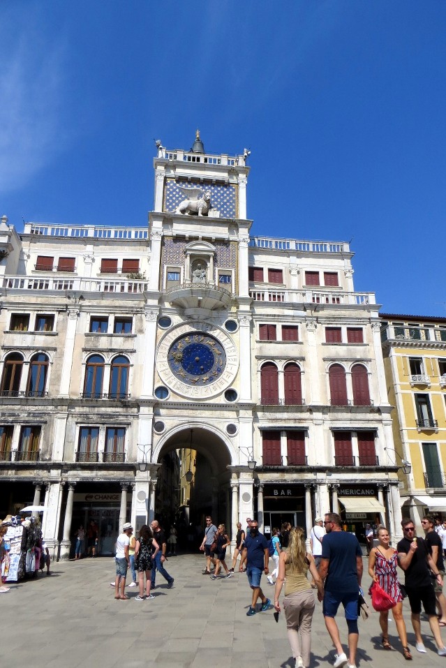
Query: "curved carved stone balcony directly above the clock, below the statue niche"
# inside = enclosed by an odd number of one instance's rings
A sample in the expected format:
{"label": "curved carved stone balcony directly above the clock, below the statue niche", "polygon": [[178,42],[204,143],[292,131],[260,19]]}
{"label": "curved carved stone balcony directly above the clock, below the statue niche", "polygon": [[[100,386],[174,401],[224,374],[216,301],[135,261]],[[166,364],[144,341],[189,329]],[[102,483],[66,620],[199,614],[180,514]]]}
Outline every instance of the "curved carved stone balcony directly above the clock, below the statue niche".
{"label": "curved carved stone balcony directly above the clock, below the statue niche", "polygon": [[165,299],[180,309],[228,309],[232,294],[214,283],[181,283],[165,291]]}

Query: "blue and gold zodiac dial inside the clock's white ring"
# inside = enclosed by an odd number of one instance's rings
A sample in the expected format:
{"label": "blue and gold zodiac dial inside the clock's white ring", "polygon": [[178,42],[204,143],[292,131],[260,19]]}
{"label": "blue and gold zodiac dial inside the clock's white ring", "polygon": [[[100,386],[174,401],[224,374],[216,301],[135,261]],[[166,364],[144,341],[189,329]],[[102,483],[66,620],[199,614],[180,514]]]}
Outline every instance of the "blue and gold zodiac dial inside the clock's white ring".
{"label": "blue and gold zodiac dial inside the clock's white ring", "polygon": [[170,371],[183,383],[202,387],[214,383],[223,373],[225,349],[214,336],[191,332],[172,343],[168,364]]}

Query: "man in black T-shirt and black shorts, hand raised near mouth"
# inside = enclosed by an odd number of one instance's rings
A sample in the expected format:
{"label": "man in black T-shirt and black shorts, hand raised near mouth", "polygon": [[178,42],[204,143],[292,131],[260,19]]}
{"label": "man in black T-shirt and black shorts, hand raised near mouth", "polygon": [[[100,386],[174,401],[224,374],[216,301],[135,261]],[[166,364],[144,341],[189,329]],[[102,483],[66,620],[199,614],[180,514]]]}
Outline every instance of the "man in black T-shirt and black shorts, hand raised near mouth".
{"label": "man in black T-shirt and black shorts, hand raised near mouth", "polygon": [[[429,625],[436,641],[437,652],[440,656],[446,656],[446,647],[441,639],[440,626],[436,615],[436,595],[431,581],[431,572],[438,584],[443,586],[443,578],[429,554],[429,549],[422,538],[415,536],[415,525],[412,520],[405,518],[401,521],[403,527],[403,538],[396,549],[398,550],[399,565],[404,571],[406,591],[412,612],[412,627],[415,632],[417,651],[425,654],[426,648],[421,634],[421,622],[419,615],[422,610],[429,618]],[[325,540],[325,539],[324,539]]]}

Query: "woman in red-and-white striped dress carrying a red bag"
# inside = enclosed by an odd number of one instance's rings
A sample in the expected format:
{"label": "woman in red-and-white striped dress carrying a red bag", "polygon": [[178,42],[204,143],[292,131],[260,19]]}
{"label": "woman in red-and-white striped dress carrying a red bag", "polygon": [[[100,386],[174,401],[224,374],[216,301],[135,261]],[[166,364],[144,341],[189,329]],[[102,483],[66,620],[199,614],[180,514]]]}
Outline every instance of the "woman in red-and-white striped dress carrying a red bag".
{"label": "woman in red-and-white striped dress carrying a red bag", "polygon": [[[389,532],[385,526],[378,529],[378,547],[373,547],[369,555],[369,574],[373,581],[378,582],[380,587],[393,598],[396,605],[392,608],[396,629],[399,639],[403,645],[403,656],[405,659],[412,659],[408,648],[408,637],[406,633],[406,624],[403,618],[403,595],[399,586],[396,566],[398,565],[398,553],[396,549],[390,546]],[[389,643],[389,611],[380,612],[380,627],[382,630],[382,646],[391,650]]]}

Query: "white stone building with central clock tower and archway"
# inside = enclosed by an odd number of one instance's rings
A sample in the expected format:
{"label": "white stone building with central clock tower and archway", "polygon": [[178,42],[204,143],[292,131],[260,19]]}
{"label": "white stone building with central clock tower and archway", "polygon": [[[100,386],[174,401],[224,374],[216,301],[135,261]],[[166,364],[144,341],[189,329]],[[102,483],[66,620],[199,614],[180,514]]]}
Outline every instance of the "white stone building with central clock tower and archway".
{"label": "white stone building with central clock tower and archway", "polygon": [[341,510],[398,537],[379,306],[349,244],[251,235],[248,151],[158,144],[148,227],[1,219],[1,512],[44,503],[62,558],[81,523],[110,554],[123,521],[181,505],[233,536]]}

